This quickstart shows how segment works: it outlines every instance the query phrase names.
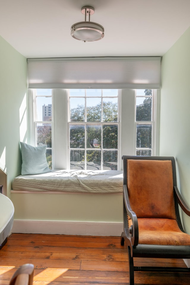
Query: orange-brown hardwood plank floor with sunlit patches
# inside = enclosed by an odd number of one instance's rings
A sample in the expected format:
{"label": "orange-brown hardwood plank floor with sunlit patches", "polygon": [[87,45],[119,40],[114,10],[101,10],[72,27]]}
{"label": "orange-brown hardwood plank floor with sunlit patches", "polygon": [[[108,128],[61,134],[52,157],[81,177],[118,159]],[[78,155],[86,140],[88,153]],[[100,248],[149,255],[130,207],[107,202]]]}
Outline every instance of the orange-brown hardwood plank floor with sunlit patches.
{"label": "orange-brown hardwood plank floor with sunlit patches", "polygon": [[[126,246],[120,237],[13,233],[0,250],[0,284],[15,270],[34,264],[34,285],[129,284]],[[135,266],[186,267],[183,260],[135,259]],[[135,272],[135,284],[190,284],[190,273]]]}

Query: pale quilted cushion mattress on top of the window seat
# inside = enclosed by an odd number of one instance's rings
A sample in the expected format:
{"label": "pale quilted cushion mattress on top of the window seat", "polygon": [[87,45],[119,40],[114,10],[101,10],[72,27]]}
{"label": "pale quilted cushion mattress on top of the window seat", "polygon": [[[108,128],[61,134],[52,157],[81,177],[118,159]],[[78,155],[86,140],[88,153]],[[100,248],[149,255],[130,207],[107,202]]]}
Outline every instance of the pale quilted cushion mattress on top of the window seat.
{"label": "pale quilted cushion mattress on top of the window seat", "polygon": [[12,192],[122,193],[123,171],[64,169],[19,175],[14,178],[12,189]]}

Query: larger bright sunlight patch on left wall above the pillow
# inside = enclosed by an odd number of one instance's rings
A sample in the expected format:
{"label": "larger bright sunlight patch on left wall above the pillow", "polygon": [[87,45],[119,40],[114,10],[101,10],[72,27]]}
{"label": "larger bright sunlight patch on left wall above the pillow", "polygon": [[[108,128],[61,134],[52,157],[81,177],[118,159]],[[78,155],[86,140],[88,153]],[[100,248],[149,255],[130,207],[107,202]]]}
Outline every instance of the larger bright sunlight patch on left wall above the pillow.
{"label": "larger bright sunlight patch on left wall above the pillow", "polygon": [[20,141],[26,142],[26,131],[27,131],[27,113],[26,113],[26,93],[19,109],[20,116]]}

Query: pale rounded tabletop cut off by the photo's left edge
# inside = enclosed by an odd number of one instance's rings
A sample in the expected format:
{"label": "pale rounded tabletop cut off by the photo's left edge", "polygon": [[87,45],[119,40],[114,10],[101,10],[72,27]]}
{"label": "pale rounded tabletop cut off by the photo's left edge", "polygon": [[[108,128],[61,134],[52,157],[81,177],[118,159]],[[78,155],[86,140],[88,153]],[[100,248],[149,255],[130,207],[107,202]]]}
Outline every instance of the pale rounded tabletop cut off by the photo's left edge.
{"label": "pale rounded tabletop cut off by the photo's left edge", "polygon": [[11,232],[14,217],[14,206],[11,200],[0,193],[0,249],[6,243]]}

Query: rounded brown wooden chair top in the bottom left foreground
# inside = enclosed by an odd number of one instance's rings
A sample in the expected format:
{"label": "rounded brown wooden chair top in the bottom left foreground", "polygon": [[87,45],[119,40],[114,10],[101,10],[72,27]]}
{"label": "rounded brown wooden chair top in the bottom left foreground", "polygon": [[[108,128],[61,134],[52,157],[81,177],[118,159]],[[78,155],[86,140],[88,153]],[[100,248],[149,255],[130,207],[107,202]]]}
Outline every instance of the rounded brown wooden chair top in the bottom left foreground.
{"label": "rounded brown wooden chair top in the bottom left foreground", "polygon": [[20,266],[11,278],[9,285],[32,285],[34,265],[27,263]]}

